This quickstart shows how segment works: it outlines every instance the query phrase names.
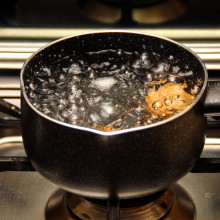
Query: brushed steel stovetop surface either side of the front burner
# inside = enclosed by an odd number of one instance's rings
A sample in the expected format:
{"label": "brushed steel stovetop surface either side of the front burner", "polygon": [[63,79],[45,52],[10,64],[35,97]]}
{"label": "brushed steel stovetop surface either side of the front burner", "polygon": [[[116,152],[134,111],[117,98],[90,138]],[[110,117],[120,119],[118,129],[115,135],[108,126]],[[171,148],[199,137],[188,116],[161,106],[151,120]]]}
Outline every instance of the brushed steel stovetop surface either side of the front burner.
{"label": "brushed steel stovetop surface either side of the front burner", "polygon": [[[19,138],[17,143],[16,140],[14,141],[14,145],[7,146],[9,152],[6,153],[5,150],[4,153],[23,155]],[[0,152],[2,154],[1,145]],[[203,156],[206,156],[206,153],[204,152]],[[196,220],[218,220],[220,218],[219,180],[220,173],[189,173],[176,184],[183,187],[192,198]],[[62,193],[62,190],[37,172],[0,173],[1,220],[46,220],[47,203],[57,191]]]}

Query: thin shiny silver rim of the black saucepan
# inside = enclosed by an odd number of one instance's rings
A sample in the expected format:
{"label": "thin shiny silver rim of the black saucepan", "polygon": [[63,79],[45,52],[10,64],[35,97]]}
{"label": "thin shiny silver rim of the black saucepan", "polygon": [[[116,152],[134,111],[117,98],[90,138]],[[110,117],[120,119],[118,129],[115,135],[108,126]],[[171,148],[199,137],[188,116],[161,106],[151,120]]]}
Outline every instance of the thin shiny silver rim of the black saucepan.
{"label": "thin shiny silver rim of the black saucepan", "polygon": [[[190,104],[188,105],[183,111],[177,113],[176,115],[174,116],[171,116],[170,118],[168,119],[164,119],[162,121],[159,121],[159,122],[155,122],[155,123],[152,123],[150,125],[145,125],[145,126],[139,126],[139,127],[134,127],[134,128],[128,128],[128,129],[123,129],[123,130],[119,130],[119,131],[111,131],[111,132],[105,132],[105,131],[100,131],[100,130],[96,130],[96,129],[93,129],[93,128],[87,128],[87,127],[82,127],[82,126],[78,126],[78,125],[73,125],[73,124],[68,124],[68,123],[65,123],[65,122],[61,122],[61,121],[58,121],[56,119],[53,119],[45,114],[43,114],[41,111],[39,111],[37,108],[35,108],[31,102],[29,101],[29,98],[27,97],[27,94],[26,94],[26,91],[25,91],[25,86],[24,86],[24,80],[23,80],[23,75],[24,75],[24,72],[25,72],[25,69],[26,69],[26,66],[29,64],[29,62],[37,55],[39,54],[40,52],[42,52],[43,50],[45,50],[46,48],[50,47],[50,46],[53,46],[54,44],[56,43],[59,43],[63,40],[67,40],[67,39],[70,39],[70,38],[74,38],[74,37],[80,37],[80,36],[84,36],[84,35],[91,35],[91,34],[108,34],[108,33],[127,33],[127,34],[137,34],[137,35],[145,35],[145,36],[150,36],[150,37],[154,37],[154,38],[158,38],[158,39],[163,39],[165,41],[169,41],[173,44],[176,44],[178,45],[179,47],[187,50],[188,52],[190,52],[192,55],[194,55],[194,57],[196,57],[196,59],[200,62],[202,68],[203,68],[203,72],[204,72],[204,82],[203,82],[203,86],[200,90],[200,93],[198,94],[198,96],[196,97],[196,99]],[[39,48],[36,52],[34,52],[27,60],[26,62],[24,63],[22,69],[21,69],[21,72],[20,72],[20,85],[21,85],[21,91],[22,91],[22,94],[23,94],[23,97],[26,101],[26,103],[33,109],[33,111],[35,111],[37,114],[39,114],[40,116],[42,116],[43,118],[49,120],[49,121],[52,121],[56,124],[60,124],[62,126],[65,126],[65,127],[69,127],[69,128],[74,128],[74,129],[78,129],[78,130],[82,130],[82,131],[88,131],[88,132],[92,132],[92,133],[95,133],[95,134],[98,134],[98,135],[102,135],[102,136],[114,136],[114,135],[118,135],[118,134],[124,134],[124,133],[129,133],[129,132],[135,132],[135,131],[139,131],[139,130],[145,130],[145,129],[150,129],[150,128],[153,128],[153,127],[157,127],[157,126],[161,126],[163,124],[166,124],[166,123],[169,123],[179,117],[181,117],[182,115],[186,114],[188,111],[190,111],[197,103],[198,101],[200,100],[200,98],[202,97],[202,95],[204,94],[204,92],[206,91],[206,87],[207,87],[207,84],[208,84],[208,71],[205,67],[205,64],[203,63],[203,61],[201,60],[201,58],[194,52],[192,51],[191,49],[189,49],[188,47],[186,47],[185,45],[179,43],[179,42],[176,42],[174,40],[171,40],[169,38],[166,38],[166,37],[163,37],[163,36],[158,36],[158,35],[154,35],[154,34],[149,34],[149,33],[143,33],[143,32],[138,32],[138,31],[124,31],[124,30],[101,30],[101,31],[91,31],[91,32],[85,32],[83,34],[75,34],[75,35],[71,35],[71,36],[67,36],[67,37],[64,37],[64,38],[60,38],[58,40],[55,40],[51,43],[48,43],[46,44],[45,46]]]}

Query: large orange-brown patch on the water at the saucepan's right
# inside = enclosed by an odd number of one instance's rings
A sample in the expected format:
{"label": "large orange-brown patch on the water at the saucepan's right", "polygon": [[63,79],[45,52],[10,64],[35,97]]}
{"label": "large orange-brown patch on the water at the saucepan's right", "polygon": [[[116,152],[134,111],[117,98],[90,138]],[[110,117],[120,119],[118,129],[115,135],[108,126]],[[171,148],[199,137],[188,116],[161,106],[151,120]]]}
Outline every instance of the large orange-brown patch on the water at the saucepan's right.
{"label": "large orange-brown patch on the water at the saucepan's right", "polygon": [[187,87],[186,83],[169,82],[158,90],[151,89],[145,96],[149,112],[167,118],[183,111],[194,100],[194,96],[185,91]]}

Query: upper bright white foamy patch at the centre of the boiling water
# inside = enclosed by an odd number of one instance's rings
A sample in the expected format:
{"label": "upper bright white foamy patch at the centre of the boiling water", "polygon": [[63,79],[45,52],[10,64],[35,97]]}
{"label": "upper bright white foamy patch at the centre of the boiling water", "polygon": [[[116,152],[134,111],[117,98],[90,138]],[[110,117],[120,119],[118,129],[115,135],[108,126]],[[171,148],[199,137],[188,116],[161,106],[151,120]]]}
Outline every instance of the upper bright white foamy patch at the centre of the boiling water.
{"label": "upper bright white foamy patch at the centre of the boiling water", "polygon": [[109,90],[112,86],[114,86],[118,81],[113,77],[102,77],[91,81],[91,85],[96,88],[106,91]]}

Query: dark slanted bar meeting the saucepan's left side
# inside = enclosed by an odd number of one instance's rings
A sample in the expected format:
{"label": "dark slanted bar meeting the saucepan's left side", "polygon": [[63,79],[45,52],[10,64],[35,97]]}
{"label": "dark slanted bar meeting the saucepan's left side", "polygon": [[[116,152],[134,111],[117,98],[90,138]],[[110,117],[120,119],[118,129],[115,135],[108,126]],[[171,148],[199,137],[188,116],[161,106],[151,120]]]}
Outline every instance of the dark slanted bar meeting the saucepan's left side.
{"label": "dark slanted bar meeting the saucepan's left side", "polygon": [[20,119],[21,110],[17,106],[6,102],[4,99],[0,98],[0,112],[6,113],[10,116]]}

